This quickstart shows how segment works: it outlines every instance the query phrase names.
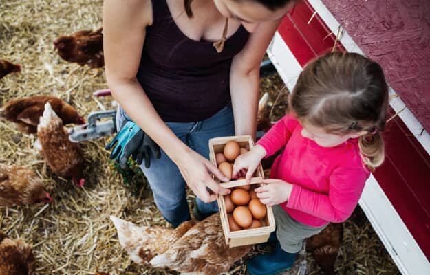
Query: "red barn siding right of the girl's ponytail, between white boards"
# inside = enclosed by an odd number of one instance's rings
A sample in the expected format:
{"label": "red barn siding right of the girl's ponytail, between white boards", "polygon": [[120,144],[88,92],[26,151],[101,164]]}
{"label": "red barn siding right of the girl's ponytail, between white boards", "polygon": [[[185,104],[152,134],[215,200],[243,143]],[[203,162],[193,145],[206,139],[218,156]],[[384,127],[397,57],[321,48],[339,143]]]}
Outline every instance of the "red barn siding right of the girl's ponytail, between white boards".
{"label": "red barn siding right of the girl's ponytail, between white boards", "polygon": [[374,177],[430,259],[430,156],[399,117],[387,124],[384,140],[385,162]]}

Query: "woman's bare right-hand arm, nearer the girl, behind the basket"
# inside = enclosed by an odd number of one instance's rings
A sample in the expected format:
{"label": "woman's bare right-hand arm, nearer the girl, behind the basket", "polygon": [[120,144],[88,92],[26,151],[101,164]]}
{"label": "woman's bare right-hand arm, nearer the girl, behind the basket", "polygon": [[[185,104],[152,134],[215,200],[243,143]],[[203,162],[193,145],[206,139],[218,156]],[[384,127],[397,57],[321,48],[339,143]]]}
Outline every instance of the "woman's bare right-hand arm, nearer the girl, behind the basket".
{"label": "woman's bare right-hand arm, nearer the girl, behind the basket", "polygon": [[233,58],[230,94],[235,117],[235,134],[252,135],[257,130],[260,64],[281,20],[261,23],[248,42]]}

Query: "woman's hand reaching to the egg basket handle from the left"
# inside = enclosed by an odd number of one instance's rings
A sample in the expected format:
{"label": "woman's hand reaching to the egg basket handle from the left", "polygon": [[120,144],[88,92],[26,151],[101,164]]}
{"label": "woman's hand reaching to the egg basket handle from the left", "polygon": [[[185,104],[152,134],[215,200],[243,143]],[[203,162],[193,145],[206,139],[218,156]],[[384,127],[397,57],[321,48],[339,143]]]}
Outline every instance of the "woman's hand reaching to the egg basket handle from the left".
{"label": "woman's hand reaching to the egg basket handle from the left", "polygon": [[[196,153],[193,150],[188,150],[183,157],[176,162],[182,177],[186,184],[191,188],[193,193],[205,203],[215,201],[218,194],[228,195],[230,190],[222,188],[215,182],[210,175],[212,173],[220,181],[228,181],[218,168],[213,165],[208,159]],[[209,192],[210,189],[213,192]]]}

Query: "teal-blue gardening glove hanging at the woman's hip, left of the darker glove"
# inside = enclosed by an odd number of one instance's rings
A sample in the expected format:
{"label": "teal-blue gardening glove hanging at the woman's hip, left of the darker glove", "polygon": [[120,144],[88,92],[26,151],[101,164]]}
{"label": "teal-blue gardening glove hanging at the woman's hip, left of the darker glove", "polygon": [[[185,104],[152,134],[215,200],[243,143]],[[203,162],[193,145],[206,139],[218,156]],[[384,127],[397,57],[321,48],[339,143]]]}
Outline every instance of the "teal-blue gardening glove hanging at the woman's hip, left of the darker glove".
{"label": "teal-blue gardening glove hanging at the woman's hip, left of the darker glove", "polygon": [[[137,135],[138,133],[139,135]],[[131,153],[133,152],[129,153],[129,148],[127,148],[127,152],[125,151],[127,144],[131,140],[133,141],[133,143],[135,143],[136,140],[139,141],[139,139],[140,139],[140,142],[142,142],[143,140],[142,133],[143,133],[142,130],[139,128],[139,126],[136,123],[132,121],[123,122],[120,131],[118,131],[114,139],[111,140],[111,142],[109,142],[105,147],[106,150],[110,150],[112,147],[115,146],[111,152],[111,155],[109,156],[110,159],[115,159],[116,162],[120,162],[120,159],[123,159],[125,157],[127,157],[128,159],[129,155],[131,155]],[[133,137],[135,138],[133,139]],[[125,156],[125,153],[129,153],[129,155]],[[125,163],[127,163],[127,159],[125,160]]]}

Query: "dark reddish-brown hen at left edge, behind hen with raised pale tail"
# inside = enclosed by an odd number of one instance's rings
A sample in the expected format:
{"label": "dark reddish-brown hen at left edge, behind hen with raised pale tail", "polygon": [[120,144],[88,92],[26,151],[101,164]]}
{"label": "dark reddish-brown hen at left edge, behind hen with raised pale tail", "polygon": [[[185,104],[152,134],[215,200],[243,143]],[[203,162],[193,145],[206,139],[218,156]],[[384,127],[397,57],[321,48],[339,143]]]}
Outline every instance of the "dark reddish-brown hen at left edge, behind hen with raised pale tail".
{"label": "dark reddish-brown hen at left edge, behind hen with raised pale tail", "polygon": [[23,133],[36,133],[39,118],[43,115],[46,102],[50,102],[52,109],[58,113],[63,124],[84,124],[85,120],[78,111],[64,100],[55,96],[30,96],[10,100],[0,109],[0,118],[17,123],[18,129]]}

